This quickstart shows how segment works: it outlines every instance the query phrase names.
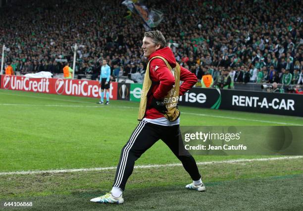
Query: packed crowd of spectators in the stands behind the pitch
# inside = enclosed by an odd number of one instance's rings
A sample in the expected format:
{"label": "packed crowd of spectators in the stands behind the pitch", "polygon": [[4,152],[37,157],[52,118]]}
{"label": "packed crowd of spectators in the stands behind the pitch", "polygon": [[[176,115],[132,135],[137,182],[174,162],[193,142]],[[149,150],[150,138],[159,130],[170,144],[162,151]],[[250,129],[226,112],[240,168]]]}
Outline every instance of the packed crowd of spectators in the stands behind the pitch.
{"label": "packed crowd of spectators in the stands behind the pitch", "polygon": [[[55,59],[71,63],[77,43],[76,74],[96,79],[103,58],[115,76],[144,73],[145,29],[138,16],[127,16],[121,0],[29,2],[19,0],[0,12],[0,44],[7,47],[5,58],[14,71],[62,73],[64,64]],[[303,83],[302,1],[146,3],[164,13],[155,29],[199,79],[207,72],[216,79],[226,69],[234,82]]]}

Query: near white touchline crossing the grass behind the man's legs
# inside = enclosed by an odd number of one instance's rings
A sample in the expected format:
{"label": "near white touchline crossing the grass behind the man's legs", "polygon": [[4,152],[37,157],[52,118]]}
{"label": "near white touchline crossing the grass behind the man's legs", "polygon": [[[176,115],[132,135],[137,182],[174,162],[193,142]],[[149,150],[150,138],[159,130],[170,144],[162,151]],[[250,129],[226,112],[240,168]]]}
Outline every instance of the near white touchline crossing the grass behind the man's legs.
{"label": "near white touchline crossing the grass behind the man's legs", "polygon": [[[206,162],[197,162],[197,165],[267,161],[267,160],[280,160],[280,159],[296,159],[296,158],[303,158],[303,156],[276,157],[276,158],[253,158],[253,159],[231,159],[231,160],[222,160],[222,161],[206,161]],[[167,166],[170,166],[170,167],[182,166],[182,163],[158,164],[158,165],[157,164],[156,165],[137,165],[137,166],[135,166],[135,168],[158,168],[158,167],[167,167]],[[0,172],[0,175],[68,173],[68,172],[79,172],[79,171],[106,171],[106,170],[114,170],[116,168],[117,167],[78,168],[78,169],[61,169],[61,170],[45,170],[45,171],[14,171],[14,172]]]}

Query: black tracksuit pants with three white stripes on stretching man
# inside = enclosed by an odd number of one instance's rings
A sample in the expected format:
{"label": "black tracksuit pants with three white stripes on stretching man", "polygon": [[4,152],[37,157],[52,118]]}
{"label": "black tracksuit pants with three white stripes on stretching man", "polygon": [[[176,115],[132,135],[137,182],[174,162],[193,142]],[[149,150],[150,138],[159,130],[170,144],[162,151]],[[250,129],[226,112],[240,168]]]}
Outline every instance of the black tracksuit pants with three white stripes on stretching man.
{"label": "black tracksuit pants with three white stripes on stretching man", "polygon": [[190,153],[184,147],[180,147],[179,152],[179,144],[183,146],[179,125],[162,126],[142,120],[122,148],[113,186],[125,189],[135,161],[159,139],[179,158],[193,180],[201,178],[196,161]]}

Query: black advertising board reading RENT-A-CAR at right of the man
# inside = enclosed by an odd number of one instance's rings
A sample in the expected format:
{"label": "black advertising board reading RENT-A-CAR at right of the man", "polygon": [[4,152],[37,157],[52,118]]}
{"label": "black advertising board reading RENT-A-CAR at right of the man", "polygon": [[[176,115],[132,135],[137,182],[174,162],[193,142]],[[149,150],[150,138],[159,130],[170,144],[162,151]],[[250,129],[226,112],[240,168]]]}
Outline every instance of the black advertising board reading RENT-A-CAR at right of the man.
{"label": "black advertising board reading RENT-A-CAR at right of the man", "polygon": [[303,116],[303,95],[298,94],[192,88],[179,105]]}

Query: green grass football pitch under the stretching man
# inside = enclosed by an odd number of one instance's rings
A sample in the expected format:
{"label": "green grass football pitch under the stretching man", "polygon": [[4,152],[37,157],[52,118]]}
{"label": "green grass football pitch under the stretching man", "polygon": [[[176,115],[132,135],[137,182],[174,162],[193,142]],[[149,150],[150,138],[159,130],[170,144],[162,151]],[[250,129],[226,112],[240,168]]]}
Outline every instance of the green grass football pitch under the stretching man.
{"label": "green grass football pitch under the stretching man", "polygon": [[[116,166],[138,124],[138,103],[0,90],[0,173]],[[181,125],[303,125],[302,117],[180,106]],[[260,156],[195,156],[198,162]],[[161,141],[136,165],[178,163]],[[90,203],[111,189],[114,169],[0,174],[4,202],[33,210],[302,210],[303,158],[199,165],[207,191],[184,188],[181,166],[137,168],[121,206]]]}

